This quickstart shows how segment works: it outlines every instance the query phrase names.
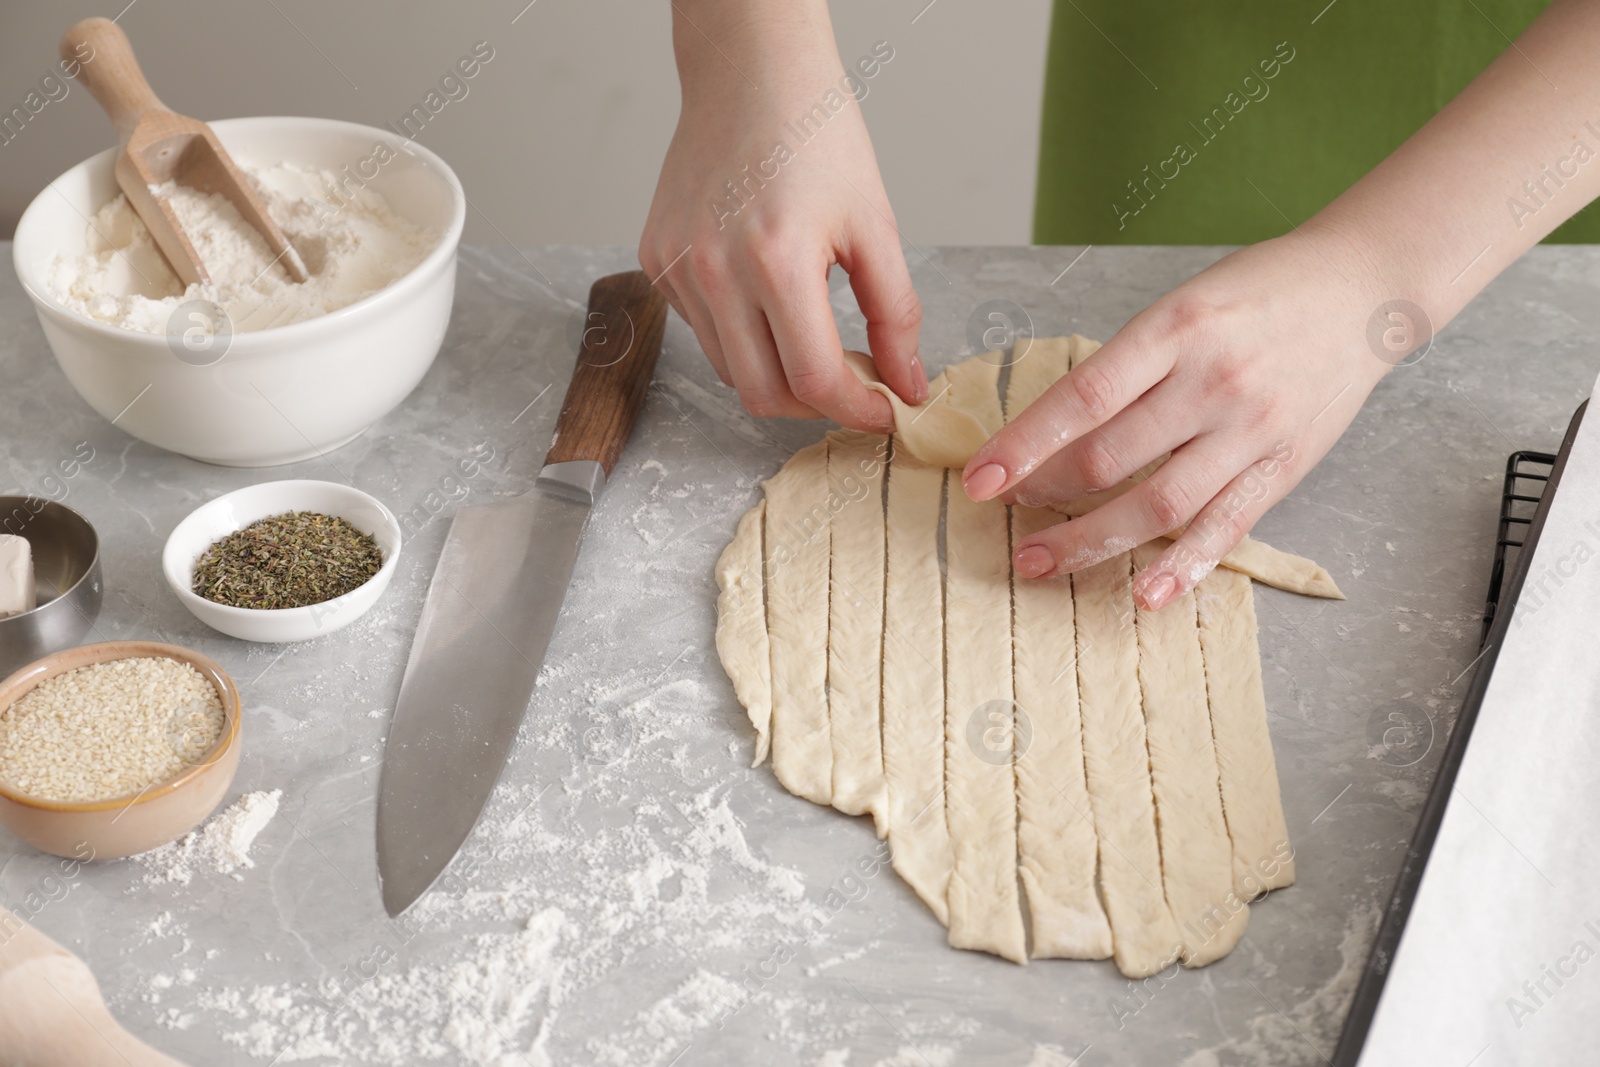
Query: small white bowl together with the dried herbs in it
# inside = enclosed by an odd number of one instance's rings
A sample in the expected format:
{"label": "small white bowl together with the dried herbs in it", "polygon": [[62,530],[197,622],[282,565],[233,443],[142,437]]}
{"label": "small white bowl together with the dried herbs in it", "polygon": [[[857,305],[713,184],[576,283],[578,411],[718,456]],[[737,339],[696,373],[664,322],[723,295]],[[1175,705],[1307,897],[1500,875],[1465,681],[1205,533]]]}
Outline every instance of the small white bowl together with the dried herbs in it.
{"label": "small white bowl together with the dried herbs in it", "polygon": [[[162,571],[214,630],[307,641],[378,603],[398,568],[400,541],[398,520],[368,493],[338,482],[264,482],[190,512],[166,539]],[[307,587],[314,603],[301,603]]]}

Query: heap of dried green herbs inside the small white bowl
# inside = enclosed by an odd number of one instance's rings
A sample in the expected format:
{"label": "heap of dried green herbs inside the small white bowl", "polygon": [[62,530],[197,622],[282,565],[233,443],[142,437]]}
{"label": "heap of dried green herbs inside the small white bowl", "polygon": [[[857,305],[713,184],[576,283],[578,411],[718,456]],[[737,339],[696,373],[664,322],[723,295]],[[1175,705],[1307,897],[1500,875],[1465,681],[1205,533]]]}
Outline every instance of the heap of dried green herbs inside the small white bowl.
{"label": "heap of dried green herbs inside the small white bowl", "polygon": [[234,608],[304,608],[363,585],[384,565],[370,534],[318,512],[285,512],[230,533],[195,563],[194,590]]}

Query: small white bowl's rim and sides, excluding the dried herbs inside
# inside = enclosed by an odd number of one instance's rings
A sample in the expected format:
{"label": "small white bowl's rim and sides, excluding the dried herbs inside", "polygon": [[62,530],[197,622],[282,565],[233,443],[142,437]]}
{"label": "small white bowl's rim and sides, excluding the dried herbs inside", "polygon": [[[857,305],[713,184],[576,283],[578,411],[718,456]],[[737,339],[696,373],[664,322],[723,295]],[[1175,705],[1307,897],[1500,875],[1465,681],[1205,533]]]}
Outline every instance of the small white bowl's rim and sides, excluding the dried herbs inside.
{"label": "small white bowl's rim and sides, excluding the dried herbs inside", "polygon": [[[283,512],[322,512],[349,522],[378,541],[384,565],[342,597],[306,608],[234,608],[194,592],[195,563],[213,544],[258,518]],[[178,523],[162,550],[162,571],[194,617],[246,641],[307,641],[355,622],[389,589],[400,561],[400,523],[376,498],[338,482],[262,482],[202,504]]]}

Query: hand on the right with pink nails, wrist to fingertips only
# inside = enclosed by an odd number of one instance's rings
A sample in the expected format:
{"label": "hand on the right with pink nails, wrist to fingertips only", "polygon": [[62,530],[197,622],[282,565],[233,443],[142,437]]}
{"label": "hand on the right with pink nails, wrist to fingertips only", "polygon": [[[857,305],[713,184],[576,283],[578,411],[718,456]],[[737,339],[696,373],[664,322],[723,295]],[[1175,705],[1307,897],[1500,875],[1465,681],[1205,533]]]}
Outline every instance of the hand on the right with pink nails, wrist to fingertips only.
{"label": "hand on the right with pink nails, wrist to fingertips only", "polygon": [[1187,525],[1134,597],[1158,609],[1205,577],[1323,458],[1382,374],[1429,341],[1426,322],[1390,312],[1370,344],[1386,301],[1355,250],[1301,229],[1227,256],[995,434],[963,474],[973,499],[1074,499],[1171,453],[1117,499],[1024,537],[1018,573],[1064,574]]}

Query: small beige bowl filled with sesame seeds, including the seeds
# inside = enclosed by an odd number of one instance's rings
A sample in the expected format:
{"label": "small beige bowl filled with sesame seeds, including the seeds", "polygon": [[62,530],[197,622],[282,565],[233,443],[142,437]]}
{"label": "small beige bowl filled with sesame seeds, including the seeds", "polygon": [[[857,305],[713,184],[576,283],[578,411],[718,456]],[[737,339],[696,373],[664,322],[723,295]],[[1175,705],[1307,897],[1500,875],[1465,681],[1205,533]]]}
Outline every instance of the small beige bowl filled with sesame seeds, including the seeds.
{"label": "small beige bowl filled with sesame seeds, including the seeds", "polygon": [[238,769],[234,680],[158,641],[80,645],[0,680],[0,824],[46,853],[115,859],[174,841]]}

